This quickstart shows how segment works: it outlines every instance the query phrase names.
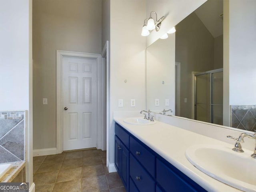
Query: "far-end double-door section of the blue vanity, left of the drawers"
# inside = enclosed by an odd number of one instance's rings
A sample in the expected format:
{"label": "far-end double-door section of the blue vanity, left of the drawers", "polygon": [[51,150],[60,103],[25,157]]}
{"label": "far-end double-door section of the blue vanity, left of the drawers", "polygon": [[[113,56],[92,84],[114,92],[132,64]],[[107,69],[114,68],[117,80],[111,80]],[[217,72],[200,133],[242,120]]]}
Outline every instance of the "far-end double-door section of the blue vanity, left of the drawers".
{"label": "far-end double-door section of the blue vanity, left of the drawers", "polygon": [[[126,188],[126,191],[129,191],[129,150],[128,147],[123,143],[124,140],[127,144],[129,144],[129,134],[120,129],[122,128],[120,128],[118,125],[115,127],[115,167],[124,184],[124,187]],[[123,140],[120,138],[123,138]]]}

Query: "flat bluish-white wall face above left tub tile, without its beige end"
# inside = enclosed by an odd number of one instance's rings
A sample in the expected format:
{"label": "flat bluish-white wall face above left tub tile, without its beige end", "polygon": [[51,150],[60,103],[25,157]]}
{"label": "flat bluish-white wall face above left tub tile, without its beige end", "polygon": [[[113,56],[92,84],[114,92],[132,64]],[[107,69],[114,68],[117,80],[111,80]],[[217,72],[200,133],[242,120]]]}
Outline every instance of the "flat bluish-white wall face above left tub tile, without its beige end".
{"label": "flat bluish-white wall face above left tub tile, without its beige end", "polygon": [[1,110],[28,110],[28,2],[0,1]]}

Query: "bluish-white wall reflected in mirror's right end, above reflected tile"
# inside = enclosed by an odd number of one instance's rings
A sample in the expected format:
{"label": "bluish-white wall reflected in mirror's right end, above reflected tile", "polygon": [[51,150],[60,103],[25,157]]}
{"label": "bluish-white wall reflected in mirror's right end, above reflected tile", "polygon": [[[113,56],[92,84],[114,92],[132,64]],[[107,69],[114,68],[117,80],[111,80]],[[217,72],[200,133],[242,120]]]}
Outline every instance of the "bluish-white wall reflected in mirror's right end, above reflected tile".
{"label": "bluish-white wall reflected in mirror's right end, above reflected tile", "polygon": [[256,104],[256,1],[229,2],[230,105]]}

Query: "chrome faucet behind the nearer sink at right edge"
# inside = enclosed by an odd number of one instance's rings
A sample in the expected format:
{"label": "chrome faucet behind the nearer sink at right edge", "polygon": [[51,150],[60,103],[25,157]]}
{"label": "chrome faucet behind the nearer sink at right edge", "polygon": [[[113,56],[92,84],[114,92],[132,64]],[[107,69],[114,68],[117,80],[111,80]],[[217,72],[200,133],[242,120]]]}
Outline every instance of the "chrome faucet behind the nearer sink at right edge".
{"label": "chrome faucet behind the nearer sink at right edge", "polygon": [[235,146],[232,149],[233,151],[236,151],[236,152],[244,152],[244,150],[242,150],[242,145],[240,144],[240,142],[244,143],[245,137],[255,139],[254,153],[251,155],[251,157],[256,159],[256,132],[253,135],[247,134],[247,133],[241,133],[238,138],[227,136],[227,138],[230,138],[236,141]]}

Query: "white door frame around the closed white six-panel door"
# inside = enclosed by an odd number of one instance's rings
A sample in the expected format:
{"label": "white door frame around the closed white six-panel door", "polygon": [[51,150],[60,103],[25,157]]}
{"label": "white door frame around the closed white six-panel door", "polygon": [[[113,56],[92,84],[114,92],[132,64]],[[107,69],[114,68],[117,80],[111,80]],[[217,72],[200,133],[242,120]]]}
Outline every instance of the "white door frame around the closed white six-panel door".
{"label": "white door frame around the closed white six-panel door", "polygon": [[[97,116],[101,117],[100,112],[100,101],[102,90],[102,81],[101,81],[101,55],[100,54],[93,54],[93,53],[83,53],[83,52],[73,52],[73,51],[62,51],[56,50],[56,153],[63,152],[63,57],[76,57],[76,58],[89,58],[96,60],[96,79],[97,79]],[[99,104],[100,103],[100,104]],[[102,121],[102,118],[100,118]],[[102,123],[96,122],[97,127],[97,134],[96,134],[96,144],[97,148],[101,148],[102,146],[102,133],[103,127],[101,126]]]}

